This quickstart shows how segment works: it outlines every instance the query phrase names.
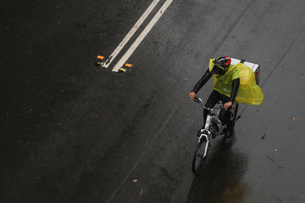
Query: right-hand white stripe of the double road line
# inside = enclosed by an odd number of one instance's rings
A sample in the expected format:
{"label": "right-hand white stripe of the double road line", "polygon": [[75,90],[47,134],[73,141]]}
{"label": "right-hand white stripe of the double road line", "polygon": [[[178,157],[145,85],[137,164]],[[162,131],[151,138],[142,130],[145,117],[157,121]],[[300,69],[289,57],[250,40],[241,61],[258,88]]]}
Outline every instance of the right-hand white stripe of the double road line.
{"label": "right-hand white stripe of the double road line", "polygon": [[157,12],[157,14],[152,18],[152,20],[148,23],[148,25],[145,27],[143,32],[140,36],[135,40],[133,45],[128,49],[128,51],[124,54],[124,56],[119,60],[119,62],[114,66],[112,71],[119,72],[119,69],[124,65],[124,63],[127,61],[127,59],[130,57],[130,55],[133,53],[134,50],[138,47],[138,45],[142,42],[144,37],[148,34],[148,32],[152,29],[152,27],[155,25],[155,23],[159,20],[159,18],[162,16],[162,14],[165,12],[167,7],[172,3],[173,0],[167,0],[163,6],[160,8],[160,10]]}

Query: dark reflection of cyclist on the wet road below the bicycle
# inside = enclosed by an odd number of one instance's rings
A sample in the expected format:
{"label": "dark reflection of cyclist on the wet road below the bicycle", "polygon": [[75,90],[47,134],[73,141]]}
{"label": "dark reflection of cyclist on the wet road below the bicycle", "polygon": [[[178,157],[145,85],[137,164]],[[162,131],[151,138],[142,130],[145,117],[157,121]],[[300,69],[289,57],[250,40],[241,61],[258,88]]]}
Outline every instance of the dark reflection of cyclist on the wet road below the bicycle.
{"label": "dark reflection of cyclist on the wet road below the bicycle", "polygon": [[[218,137],[217,137],[218,138]],[[248,158],[232,149],[235,137],[213,144],[207,164],[190,187],[187,202],[242,202],[249,186],[244,182]],[[214,142],[215,143],[215,142]]]}

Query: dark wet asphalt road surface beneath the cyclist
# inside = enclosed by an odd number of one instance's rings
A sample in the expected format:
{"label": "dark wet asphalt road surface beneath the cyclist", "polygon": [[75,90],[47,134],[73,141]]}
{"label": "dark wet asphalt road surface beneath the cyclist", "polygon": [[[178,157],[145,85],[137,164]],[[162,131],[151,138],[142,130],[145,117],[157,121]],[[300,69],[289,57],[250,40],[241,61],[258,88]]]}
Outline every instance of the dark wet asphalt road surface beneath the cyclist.
{"label": "dark wet asphalt road surface beneath the cyclist", "polygon": [[[1,202],[305,202],[305,2],[174,0],[134,68],[112,72],[161,0],[95,67],[151,2],[0,2]],[[187,95],[223,54],[260,64],[265,99],[240,105],[194,176],[202,109]]]}

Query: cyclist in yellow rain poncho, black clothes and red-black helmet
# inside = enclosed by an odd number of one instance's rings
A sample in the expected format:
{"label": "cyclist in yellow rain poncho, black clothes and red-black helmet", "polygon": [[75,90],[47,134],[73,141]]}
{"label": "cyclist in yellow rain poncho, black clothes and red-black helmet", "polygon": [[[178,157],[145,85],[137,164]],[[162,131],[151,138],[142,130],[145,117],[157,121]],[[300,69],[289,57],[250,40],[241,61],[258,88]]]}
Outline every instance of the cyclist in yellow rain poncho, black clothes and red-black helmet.
{"label": "cyclist in yellow rain poncho, black clothes and red-black helmet", "polygon": [[[210,59],[210,67],[190,92],[191,101],[212,76],[214,76],[213,92],[205,106],[213,108],[217,102],[222,101],[224,109],[220,110],[218,118],[227,125],[225,136],[229,138],[233,135],[235,125],[235,122],[230,120],[229,110],[232,103],[262,104],[264,95],[255,83],[255,76],[251,68],[242,63],[231,65],[231,59],[228,56],[218,56],[216,59]],[[205,127],[207,113],[207,110],[204,109],[204,123],[201,129]],[[201,135],[201,129],[197,136]]]}

